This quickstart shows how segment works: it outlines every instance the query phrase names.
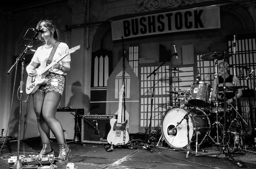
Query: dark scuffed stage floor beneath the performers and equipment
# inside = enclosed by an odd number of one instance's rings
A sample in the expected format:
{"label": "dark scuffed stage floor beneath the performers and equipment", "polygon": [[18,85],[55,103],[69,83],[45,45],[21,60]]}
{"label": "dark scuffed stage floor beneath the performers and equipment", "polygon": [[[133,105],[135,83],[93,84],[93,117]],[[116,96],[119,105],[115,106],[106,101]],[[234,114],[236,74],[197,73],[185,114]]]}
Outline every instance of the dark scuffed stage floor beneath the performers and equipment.
{"label": "dark scuffed stage floor beneath the performers and equipment", "polygon": [[[74,169],[236,169],[237,163],[243,165],[243,168],[256,168],[256,149],[253,145],[246,145],[246,150],[239,149],[234,154],[234,147],[229,145],[230,153],[227,155],[223,151],[223,145],[209,145],[204,143],[200,146],[200,151],[196,153],[192,146],[188,158],[186,158],[186,149],[171,148],[165,141],[155,143],[150,152],[145,149],[143,141],[133,140],[135,144],[129,146],[114,146],[113,151],[106,151],[107,144],[84,143],[84,145],[70,140],[68,146],[71,149],[72,157],[68,163],[74,163]],[[0,146],[3,142],[0,142]],[[58,157],[58,144],[52,140],[52,146],[55,150],[55,157]],[[20,141],[20,155],[28,157],[37,155],[42,147],[40,138],[31,138]],[[228,148],[224,148],[227,150]],[[204,150],[201,151],[201,150]],[[8,163],[11,156],[17,155],[17,140],[6,141],[0,151],[0,169],[13,168]],[[53,163],[54,164],[54,163]],[[23,168],[50,168],[50,163],[43,164],[40,167],[37,164],[24,164]],[[66,169],[67,164],[52,165],[52,168]],[[240,166],[241,167],[241,166]]]}

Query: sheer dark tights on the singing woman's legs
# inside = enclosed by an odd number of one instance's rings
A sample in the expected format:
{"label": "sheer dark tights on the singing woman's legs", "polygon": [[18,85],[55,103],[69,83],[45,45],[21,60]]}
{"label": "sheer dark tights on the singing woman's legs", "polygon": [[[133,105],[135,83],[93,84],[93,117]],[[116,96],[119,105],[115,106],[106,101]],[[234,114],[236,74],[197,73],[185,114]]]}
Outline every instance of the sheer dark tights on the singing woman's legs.
{"label": "sheer dark tights on the singing woman's legs", "polygon": [[55,117],[61,95],[58,92],[36,91],[33,94],[33,106],[36,113],[38,130],[43,144],[50,144],[50,130],[59,145],[65,144],[62,125]]}

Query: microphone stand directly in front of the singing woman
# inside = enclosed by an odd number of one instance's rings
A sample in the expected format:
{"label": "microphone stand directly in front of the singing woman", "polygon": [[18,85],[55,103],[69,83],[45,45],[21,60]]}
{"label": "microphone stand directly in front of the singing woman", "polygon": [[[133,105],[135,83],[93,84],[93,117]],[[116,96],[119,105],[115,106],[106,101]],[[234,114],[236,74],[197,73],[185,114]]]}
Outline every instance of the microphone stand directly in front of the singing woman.
{"label": "microphone stand directly in front of the singing woman", "polygon": [[14,67],[17,66],[18,62],[21,61],[21,80],[20,80],[20,108],[19,108],[19,125],[18,125],[18,145],[17,145],[17,160],[15,161],[13,165],[13,169],[22,169],[22,163],[20,161],[20,130],[21,130],[21,113],[22,113],[22,95],[23,95],[23,80],[24,80],[24,63],[25,63],[25,55],[27,54],[27,51],[30,50],[30,47],[34,40],[37,39],[38,32],[35,34],[34,38],[30,41],[29,45],[25,45],[26,49],[19,55],[19,57],[16,59],[16,62],[12,65],[12,67],[7,72],[10,74]]}

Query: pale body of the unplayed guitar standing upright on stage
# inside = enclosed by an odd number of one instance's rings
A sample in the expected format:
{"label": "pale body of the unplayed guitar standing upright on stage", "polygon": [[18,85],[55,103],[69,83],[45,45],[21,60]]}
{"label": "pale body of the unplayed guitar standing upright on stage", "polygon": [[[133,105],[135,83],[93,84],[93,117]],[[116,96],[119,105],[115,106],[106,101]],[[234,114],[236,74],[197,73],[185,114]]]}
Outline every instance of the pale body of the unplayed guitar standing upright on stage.
{"label": "pale body of the unplayed guitar standing upright on stage", "polygon": [[110,120],[111,129],[108,133],[108,143],[114,145],[124,145],[129,141],[129,134],[127,131],[128,120],[124,123],[118,123],[115,118]]}

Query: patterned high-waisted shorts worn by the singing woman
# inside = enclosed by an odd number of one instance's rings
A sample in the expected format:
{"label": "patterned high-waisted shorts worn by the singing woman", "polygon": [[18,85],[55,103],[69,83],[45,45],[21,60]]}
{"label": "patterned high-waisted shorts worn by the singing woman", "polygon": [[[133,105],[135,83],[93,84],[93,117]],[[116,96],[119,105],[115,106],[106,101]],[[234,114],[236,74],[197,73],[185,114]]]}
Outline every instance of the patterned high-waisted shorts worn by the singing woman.
{"label": "patterned high-waisted shorts worn by the singing woman", "polygon": [[65,84],[64,75],[58,75],[56,73],[50,72],[45,79],[48,79],[48,82],[45,85],[41,85],[38,90],[41,92],[55,91],[62,95]]}

